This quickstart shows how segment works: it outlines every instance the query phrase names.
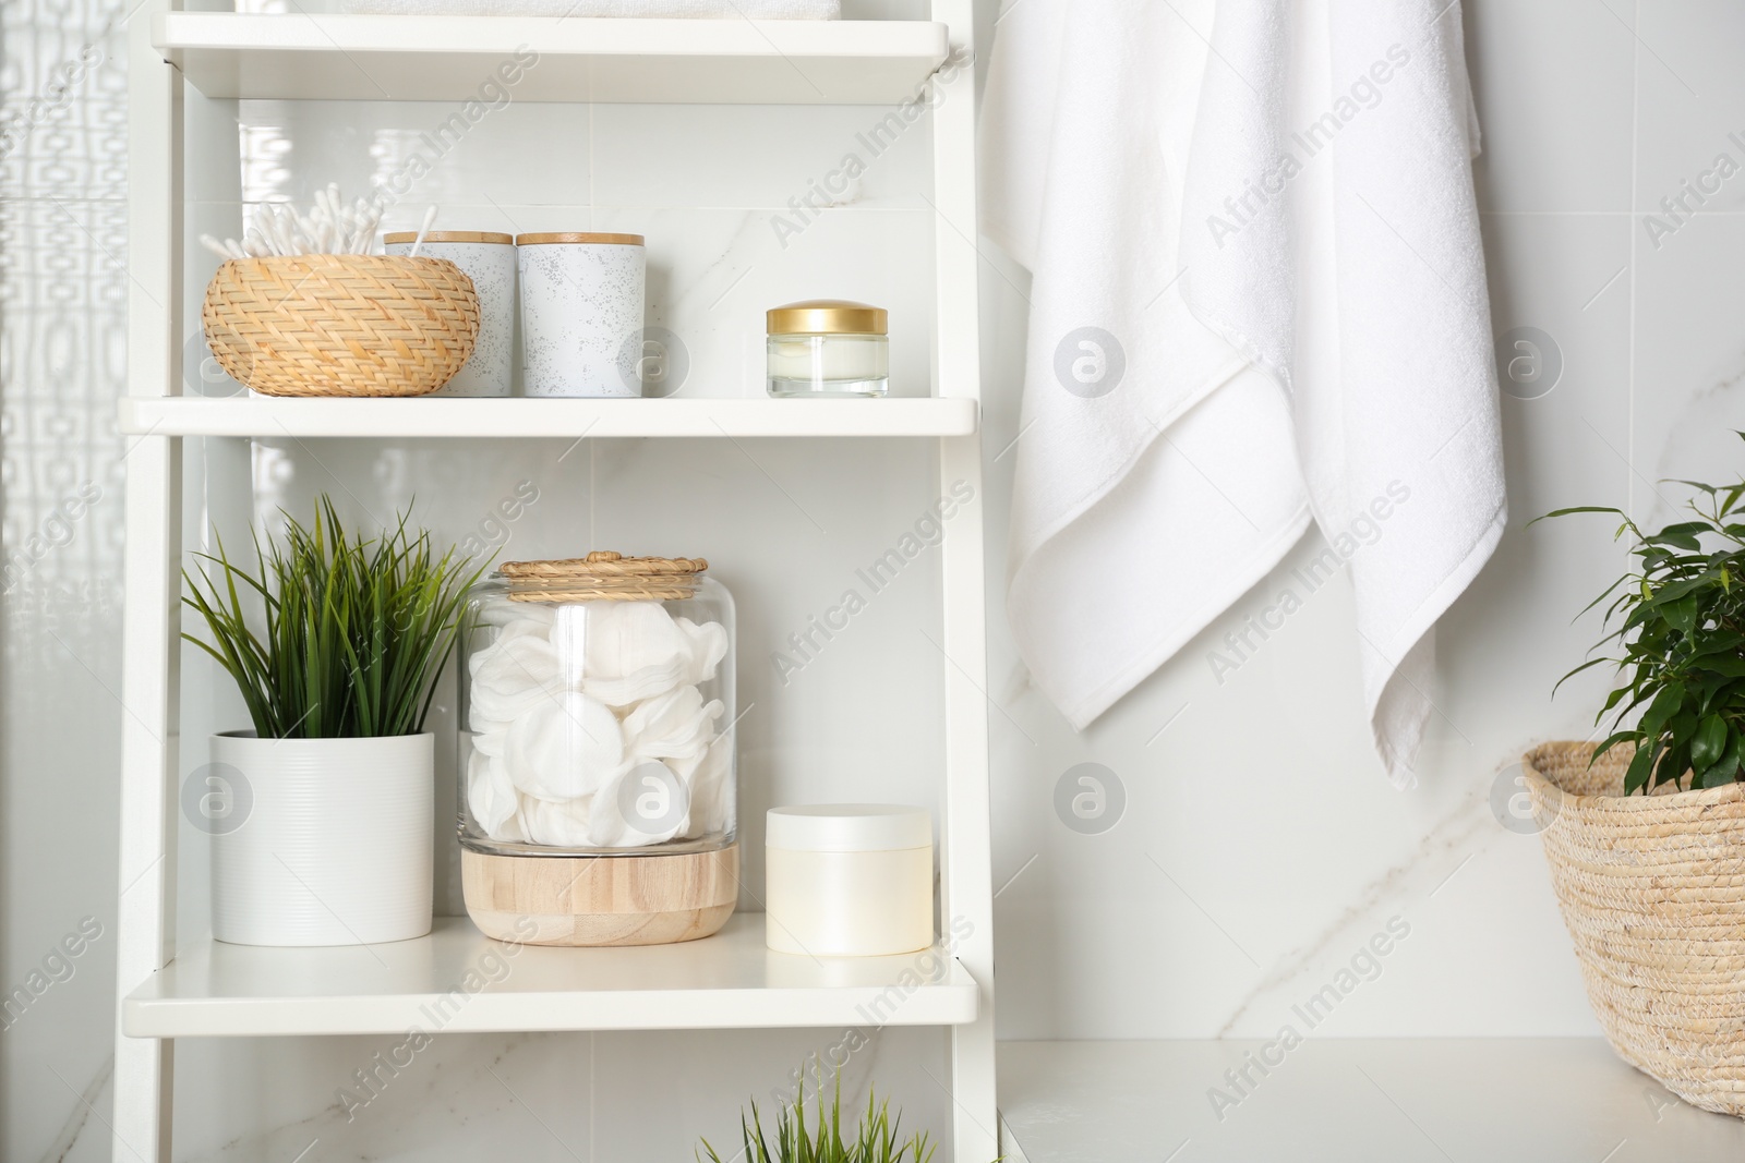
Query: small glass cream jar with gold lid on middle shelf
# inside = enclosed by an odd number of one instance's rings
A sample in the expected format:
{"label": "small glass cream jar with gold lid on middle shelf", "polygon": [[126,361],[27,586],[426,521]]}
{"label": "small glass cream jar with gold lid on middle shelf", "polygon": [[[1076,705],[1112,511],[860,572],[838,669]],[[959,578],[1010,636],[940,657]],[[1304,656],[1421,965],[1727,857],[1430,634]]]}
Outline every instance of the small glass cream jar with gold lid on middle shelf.
{"label": "small glass cream jar with gold lid on middle shelf", "polygon": [[766,312],[771,396],[883,396],[890,391],[890,314],[815,298]]}

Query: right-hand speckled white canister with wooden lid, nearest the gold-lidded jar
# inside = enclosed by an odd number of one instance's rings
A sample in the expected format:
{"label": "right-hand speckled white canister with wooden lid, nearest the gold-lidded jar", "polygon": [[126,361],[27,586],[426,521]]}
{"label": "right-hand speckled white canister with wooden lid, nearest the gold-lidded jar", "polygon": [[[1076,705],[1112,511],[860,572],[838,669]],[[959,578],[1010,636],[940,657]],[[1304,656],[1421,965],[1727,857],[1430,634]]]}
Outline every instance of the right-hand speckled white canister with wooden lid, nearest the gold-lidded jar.
{"label": "right-hand speckled white canister with wooden lid, nearest the gold-lidded jar", "polygon": [[[640,396],[640,234],[520,234],[522,384],[529,396]],[[625,354],[632,352],[626,359]]]}

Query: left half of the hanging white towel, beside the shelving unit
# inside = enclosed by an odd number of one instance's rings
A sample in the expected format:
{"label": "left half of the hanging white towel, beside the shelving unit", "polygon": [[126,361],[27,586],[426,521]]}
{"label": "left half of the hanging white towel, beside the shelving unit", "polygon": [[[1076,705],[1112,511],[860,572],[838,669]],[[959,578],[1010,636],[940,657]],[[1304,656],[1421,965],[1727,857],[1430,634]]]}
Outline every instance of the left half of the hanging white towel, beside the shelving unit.
{"label": "left half of the hanging white towel, beside the shelving unit", "polygon": [[1035,274],[1007,612],[1080,729],[1309,521],[1286,398],[1180,295],[1206,52],[1174,7],[1026,0],[988,77],[986,228]]}

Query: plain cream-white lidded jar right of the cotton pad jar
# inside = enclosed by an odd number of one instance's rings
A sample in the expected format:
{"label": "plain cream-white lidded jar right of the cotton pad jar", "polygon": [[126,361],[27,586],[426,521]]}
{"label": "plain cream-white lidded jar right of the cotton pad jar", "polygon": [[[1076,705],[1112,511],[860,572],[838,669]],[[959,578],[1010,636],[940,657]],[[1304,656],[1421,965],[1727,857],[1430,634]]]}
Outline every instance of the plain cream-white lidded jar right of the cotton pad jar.
{"label": "plain cream-white lidded jar right of the cotton pad jar", "polygon": [[778,954],[883,957],[934,943],[925,807],[771,807],[764,877],[764,942]]}

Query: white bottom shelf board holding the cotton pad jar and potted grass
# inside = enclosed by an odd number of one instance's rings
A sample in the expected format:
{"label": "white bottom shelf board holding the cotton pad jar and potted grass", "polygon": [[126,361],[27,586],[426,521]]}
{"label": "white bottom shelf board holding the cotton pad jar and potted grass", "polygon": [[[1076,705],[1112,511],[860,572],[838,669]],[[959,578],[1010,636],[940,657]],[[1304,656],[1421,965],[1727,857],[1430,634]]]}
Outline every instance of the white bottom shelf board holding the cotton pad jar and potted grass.
{"label": "white bottom shelf board holding the cotton pad jar and potted grass", "polygon": [[208,940],[122,1004],[131,1037],[782,1025],[961,1025],[975,982],[939,949],[792,957],[763,914],[715,936],[637,949],[503,945],[466,917],[387,945],[263,949]]}

